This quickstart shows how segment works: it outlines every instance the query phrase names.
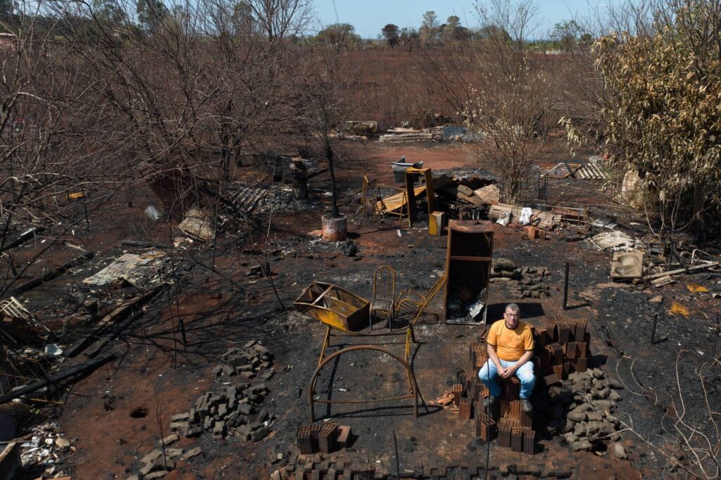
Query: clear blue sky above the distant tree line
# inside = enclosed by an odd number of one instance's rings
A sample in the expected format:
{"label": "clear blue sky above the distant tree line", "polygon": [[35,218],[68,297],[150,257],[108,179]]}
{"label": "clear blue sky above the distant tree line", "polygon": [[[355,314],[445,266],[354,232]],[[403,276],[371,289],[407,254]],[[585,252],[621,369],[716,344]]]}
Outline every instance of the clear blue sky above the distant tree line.
{"label": "clear blue sky above the distant tree line", "polygon": [[[481,3],[485,3],[480,0]],[[461,25],[477,27],[478,20],[472,0],[315,0],[315,12],[322,25],[350,23],[363,38],[375,38],[384,25],[420,27],[423,13],[433,10],[441,23],[457,15]],[[537,0],[539,28],[549,31],[557,22],[576,14],[603,10],[609,1],[603,0]]]}

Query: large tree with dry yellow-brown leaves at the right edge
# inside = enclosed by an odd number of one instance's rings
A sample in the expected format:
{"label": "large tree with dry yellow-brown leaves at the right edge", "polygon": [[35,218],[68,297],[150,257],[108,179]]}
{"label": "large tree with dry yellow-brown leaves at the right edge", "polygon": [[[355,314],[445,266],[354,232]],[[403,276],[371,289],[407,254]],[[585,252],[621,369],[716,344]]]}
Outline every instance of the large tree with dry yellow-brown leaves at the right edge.
{"label": "large tree with dry yellow-brown leaves at the right edge", "polygon": [[[721,205],[721,6],[688,0],[660,11],[656,30],[593,45],[605,97],[601,125],[611,164],[658,193],[662,226],[695,226]],[[566,124],[569,137],[585,141]]]}

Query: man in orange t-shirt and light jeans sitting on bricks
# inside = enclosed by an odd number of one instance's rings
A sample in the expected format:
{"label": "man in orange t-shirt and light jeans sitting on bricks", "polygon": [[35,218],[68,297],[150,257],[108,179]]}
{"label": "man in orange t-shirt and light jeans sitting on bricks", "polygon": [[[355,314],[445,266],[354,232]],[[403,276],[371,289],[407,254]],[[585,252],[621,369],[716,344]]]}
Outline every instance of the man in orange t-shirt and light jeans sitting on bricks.
{"label": "man in orange t-shirt and light jeans sitting on bricks", "polygon": [[501,390],[496,379],[499,375],[502,378],[516,375],[521,381],[521,409],[531,412],[533,406],[528,399],[536,383],[534,364],[530,361],[534,354],[534,335],[531,326],[521,321],[521,307],[516,303],[505,307],[503,317],[488,331],[488,361],[478,373],[490,392],[484,406],[490,407],[498,401]]}

